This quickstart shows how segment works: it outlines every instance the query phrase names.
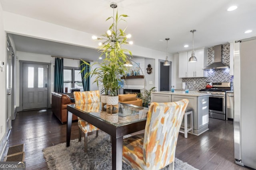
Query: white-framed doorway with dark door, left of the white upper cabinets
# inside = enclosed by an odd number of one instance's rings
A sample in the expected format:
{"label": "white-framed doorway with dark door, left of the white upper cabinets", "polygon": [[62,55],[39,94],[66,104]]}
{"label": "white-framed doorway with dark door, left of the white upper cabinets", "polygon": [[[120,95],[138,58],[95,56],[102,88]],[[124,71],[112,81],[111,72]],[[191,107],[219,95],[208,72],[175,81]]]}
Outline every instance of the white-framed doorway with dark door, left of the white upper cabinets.
{"label": "white-framed doorway with dark door, left of the white upper cabinets", "polygon": [[172,62],[164,66],[164,60],[159,60],[159,91],[170,91],[172,84]]}

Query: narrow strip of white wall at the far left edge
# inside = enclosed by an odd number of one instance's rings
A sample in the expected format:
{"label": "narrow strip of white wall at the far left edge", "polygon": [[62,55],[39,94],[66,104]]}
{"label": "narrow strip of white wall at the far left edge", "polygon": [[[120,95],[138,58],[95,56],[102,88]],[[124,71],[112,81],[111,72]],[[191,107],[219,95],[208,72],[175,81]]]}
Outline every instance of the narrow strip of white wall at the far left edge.
{"label": "narrow strip of white wall at the far left edge", "polygon": [[[6,65],[6,33],[4,32],[4,23],[3,23],[3,10],[0,4],[0,61],[4,62]],[[6,142],[4,141],[4,136],[6,136],[6,68],[4,71],[0,71],[0,154],[3,149],[3,145]]]}

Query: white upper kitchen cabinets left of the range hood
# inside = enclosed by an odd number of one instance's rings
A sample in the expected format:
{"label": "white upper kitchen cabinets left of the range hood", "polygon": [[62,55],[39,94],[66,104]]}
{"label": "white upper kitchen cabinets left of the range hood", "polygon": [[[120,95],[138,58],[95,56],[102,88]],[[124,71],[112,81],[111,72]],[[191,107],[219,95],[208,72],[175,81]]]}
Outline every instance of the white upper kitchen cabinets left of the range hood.
{"label": "white upper kitchen cabinets left of the range hood", "polygon": [[188,59],[191,57],[192,51],[179,53],[179,78],[189,77],[207,77],[208,72],[203,70],[207,62],[207,50],[194,50],[197,62],[189,63]]}

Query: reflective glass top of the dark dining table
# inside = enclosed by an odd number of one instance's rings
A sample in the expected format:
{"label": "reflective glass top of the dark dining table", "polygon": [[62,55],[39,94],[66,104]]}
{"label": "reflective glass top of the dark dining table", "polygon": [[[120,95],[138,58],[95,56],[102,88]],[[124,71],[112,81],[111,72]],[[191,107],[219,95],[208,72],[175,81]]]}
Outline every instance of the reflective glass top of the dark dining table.
{"label": "reflective glass top of the dark dining table", "polygon": [[130,104],[118,103],[118,105],[106,105],[102,102],[87,104],[73,104],[74,107],[84,114],[90,114],[115,126],[144,121],[147,118],[148,108]]}

